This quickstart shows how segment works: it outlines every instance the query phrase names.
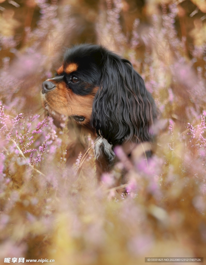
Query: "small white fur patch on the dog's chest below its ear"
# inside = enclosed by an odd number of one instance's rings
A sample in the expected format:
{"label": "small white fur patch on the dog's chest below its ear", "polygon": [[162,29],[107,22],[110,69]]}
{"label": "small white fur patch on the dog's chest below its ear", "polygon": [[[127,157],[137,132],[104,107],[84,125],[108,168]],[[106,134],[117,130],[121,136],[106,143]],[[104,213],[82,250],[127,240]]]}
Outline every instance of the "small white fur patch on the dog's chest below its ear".
{"label": "small white fur patch on the dog's chest below its ear", "polygon": [[97,159],[102,152],[106,154],[106,156],[109,158],[110,161],[114,159],[115,153],[112,150],[112,145],[109,144],[106,139],[97,138],[95,142],[97,142],[94,147],[95,156],[97,157]]}

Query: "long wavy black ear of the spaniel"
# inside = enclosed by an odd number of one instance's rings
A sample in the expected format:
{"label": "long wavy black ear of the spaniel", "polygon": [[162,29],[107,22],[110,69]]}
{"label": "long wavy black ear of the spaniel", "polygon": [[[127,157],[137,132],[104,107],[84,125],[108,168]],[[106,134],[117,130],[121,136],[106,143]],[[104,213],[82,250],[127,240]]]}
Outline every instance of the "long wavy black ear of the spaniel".
{"label": "long wavy black ear of the spaniel", "polygon": [[94,98],[91,123],[110,144],[124,140],[150,141],[155,103],[130,61],[107,52],[102,57],[100,86]]}

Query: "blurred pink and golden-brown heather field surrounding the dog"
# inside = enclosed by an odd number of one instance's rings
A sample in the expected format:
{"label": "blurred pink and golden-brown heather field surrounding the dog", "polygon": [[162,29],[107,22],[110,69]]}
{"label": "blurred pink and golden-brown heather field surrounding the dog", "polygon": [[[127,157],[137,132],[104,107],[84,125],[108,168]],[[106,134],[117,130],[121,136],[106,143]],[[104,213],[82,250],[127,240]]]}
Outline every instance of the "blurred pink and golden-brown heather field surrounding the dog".
{"label": "blurred pink and golden-brown heather field surrounding the dog", "polygon": [[[0,0],[0,264],[206,259],[205,13],[201,0]],[[152,157],[148,143],[131,157],[117,146],[100,174],[93,136],[43,110],[42,82],[77,43],[142,75],[158,107]]]}

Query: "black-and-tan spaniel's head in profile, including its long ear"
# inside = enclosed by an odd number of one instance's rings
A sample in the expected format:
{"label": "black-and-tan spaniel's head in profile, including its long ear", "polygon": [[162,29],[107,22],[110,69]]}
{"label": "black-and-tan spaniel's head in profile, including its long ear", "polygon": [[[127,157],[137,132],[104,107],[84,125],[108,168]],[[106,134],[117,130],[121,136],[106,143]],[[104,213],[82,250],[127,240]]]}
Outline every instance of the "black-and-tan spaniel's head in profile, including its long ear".
{"label": "black-and-tan spaniel's head in profile, including its long ear", "polygon": [[155,104],[130,61],[98,45],[69,49],[57,76],[42,84],[50,116],[66,115],[110,144],[149,141]]}

